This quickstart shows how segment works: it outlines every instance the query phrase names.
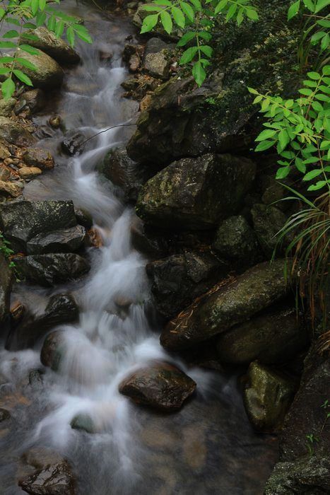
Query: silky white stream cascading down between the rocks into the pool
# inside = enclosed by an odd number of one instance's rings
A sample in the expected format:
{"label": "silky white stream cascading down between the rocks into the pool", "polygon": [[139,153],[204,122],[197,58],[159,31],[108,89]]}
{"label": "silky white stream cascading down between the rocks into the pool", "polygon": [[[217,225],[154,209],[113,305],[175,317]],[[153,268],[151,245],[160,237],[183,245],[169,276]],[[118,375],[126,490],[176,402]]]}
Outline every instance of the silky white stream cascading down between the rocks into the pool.
{"label": "silky white stream cascading down between the rocks into the pool", "polygon": [[[72,291],[81,314],[78,324],[61,327],[64,362],[59,373],[45,371],[42,386],[28,383],[29,371],[40,368],[41,343],[1,351],[0,407],[11,409],[13,419],[9,429],[0,430],[0,493],[22,493],[19,458],[37,446],[54,448],[71,461],[79,495],[261,494],[276,460],[276,442],[252,432],[236,377],[187,369],[160,347],[159,329],[146,316],[151,304],[146,260],[131,247],[134,211],[95,170],[134,127],[98,134],[70,160],[59,153],[61,131],[47,127],[54,109],[67,129],[87,137],[136,119],[136,104],[122,98],[120,86],[127,76],[121,53],[131,34],[129,21],[88,2],[66,0],[62,7],[86,20],[95,42],[78,45],[82,64],[67,71],[61,93],[49,97],[49,108],[35,119],[49,134],[40,146],[54,153],[57,167],[30,182],[25,197],[73,199],[93,217],[103,247],[90,248],[90,274],[75,284],[52,292],[23,284],[15,289],[16,297],[40,311],[50,294]],[[111,62],[100,61],[100,51],[111,52]],[[196,380],[196,397],[180,412],[151,412],[119,394],[122,378],[153,359],[176,363]],[[88,414],[98,432],[71,429],[77,414]]]}

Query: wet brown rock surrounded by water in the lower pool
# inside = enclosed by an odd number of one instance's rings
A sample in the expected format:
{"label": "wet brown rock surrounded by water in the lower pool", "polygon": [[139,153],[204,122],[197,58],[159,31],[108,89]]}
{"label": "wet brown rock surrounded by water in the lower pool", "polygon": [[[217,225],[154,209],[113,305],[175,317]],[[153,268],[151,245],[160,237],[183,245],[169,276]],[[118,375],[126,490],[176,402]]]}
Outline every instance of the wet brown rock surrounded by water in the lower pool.
{"label": "wet brown rock surrounded by water in the lower pool", "polygon": [[137,404],[163,411],[179,409],[195,390],[194,380],[168,363],[142,368],[119,385],[119,392]]}

